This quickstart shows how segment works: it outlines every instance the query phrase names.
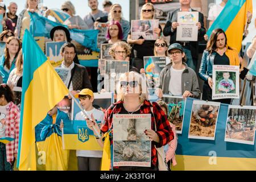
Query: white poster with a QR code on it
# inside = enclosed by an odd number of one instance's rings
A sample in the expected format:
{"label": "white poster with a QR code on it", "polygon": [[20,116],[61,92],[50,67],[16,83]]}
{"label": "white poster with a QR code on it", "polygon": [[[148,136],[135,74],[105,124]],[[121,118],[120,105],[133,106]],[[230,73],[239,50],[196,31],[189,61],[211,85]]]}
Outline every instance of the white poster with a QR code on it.
{"label": "white poster with a QR code on it", "polygon": [[199,12],[197,11],[179,11],[177,12],[177,41],[197,41],[199,22]]}

